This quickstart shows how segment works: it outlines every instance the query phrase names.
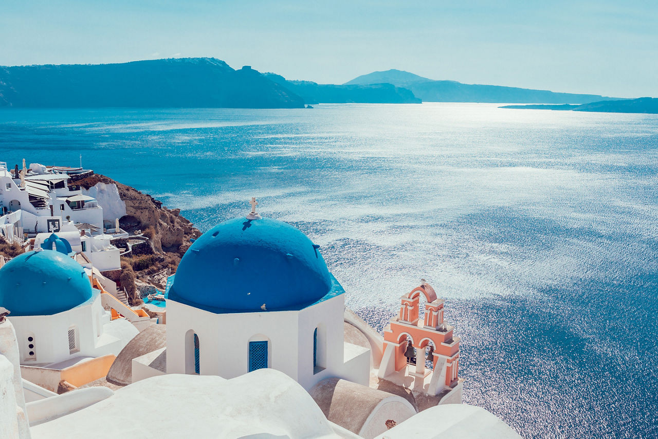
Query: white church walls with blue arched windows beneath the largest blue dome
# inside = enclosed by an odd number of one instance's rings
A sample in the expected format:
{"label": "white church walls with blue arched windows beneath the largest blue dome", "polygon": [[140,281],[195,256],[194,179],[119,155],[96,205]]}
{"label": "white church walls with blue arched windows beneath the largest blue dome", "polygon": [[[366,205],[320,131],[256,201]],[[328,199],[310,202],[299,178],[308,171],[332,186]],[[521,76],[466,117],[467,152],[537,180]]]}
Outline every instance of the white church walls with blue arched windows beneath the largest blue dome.
{"label": "white church walls with blue arched windows beneath the largest blue dome", "polygon": [[[306,389],[325,378],[368,384],[370,351],[359,348],[345,363],[343,296],[301,311],[215,314],[167,301],[167,373],[193,372],[192,330],[199,337],[199,372],[230,379],[249,371],[249,342],[268,340],[269,367]],[[313,332],[318,328],[318,366],[313,367]],[[187,341],[186,341],[187,339]],[[351,345],[350,345],[351,346]]]}

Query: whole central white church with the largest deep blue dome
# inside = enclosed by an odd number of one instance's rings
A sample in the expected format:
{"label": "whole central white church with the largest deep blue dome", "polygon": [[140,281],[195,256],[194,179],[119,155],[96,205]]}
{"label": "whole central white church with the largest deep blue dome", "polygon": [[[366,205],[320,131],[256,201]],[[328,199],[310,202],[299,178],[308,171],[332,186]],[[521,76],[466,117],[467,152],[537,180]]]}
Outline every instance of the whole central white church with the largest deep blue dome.
{"label": "whole central white church with the largest deep blue dome", "polygon": [[184,255],[167,300],[167,373],[286,373],[368,385],[370,351],[343,340],[344,290],[318,245],[285,222],[222,222]]}

